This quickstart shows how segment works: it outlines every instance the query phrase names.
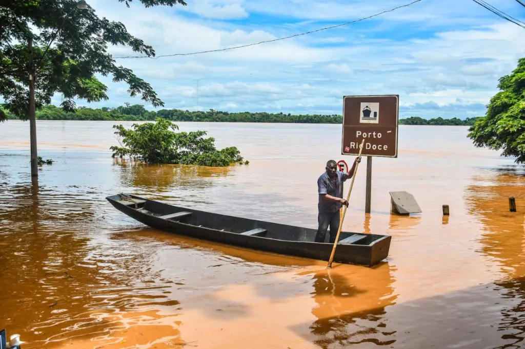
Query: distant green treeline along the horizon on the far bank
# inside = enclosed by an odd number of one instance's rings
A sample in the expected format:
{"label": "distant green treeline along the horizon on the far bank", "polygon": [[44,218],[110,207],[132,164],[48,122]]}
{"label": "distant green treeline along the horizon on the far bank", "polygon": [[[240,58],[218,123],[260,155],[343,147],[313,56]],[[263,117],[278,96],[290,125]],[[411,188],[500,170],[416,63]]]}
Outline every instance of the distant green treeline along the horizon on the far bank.
{"label": "distant green treeline along the horizon on the far bank", "polygon": [[[0,106],[2,107],[2,106]],[[9,119],[16,117],[6,111]],[[156,118],[166,118],[171,121],[189,122],[244,122],[244,123],[302,123],[302,124],[341,124],[341,115],[292,115],[283,113],[266,112],[220,112],[209,110],[207,112],[190,112],[179,109],[162,109],[148,111],[143,105],[126,104],[116,108],[88,108],[79,107],[75,112],[65,112],[55,105],[45,105],[36,112],[38,120],[78,120],[78,121],[154,121]],[[424,119],[412,116],[399,120],[400,125],[436,125],[436,126],[470,126],[474,125],[478,117],[457,117],[444,119],[442,117]]]}

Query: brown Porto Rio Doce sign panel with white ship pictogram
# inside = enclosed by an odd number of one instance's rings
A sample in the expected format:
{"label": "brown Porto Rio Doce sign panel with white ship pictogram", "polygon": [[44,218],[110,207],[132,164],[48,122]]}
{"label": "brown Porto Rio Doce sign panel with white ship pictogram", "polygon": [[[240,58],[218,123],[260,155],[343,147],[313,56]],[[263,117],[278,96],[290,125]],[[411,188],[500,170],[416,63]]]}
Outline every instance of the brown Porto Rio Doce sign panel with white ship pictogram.
{"label": "brown Porto Rio Doce sign panel with white ship pictogram", "polygon": [[397,158],[399,95],[344,96],[341,154]]}

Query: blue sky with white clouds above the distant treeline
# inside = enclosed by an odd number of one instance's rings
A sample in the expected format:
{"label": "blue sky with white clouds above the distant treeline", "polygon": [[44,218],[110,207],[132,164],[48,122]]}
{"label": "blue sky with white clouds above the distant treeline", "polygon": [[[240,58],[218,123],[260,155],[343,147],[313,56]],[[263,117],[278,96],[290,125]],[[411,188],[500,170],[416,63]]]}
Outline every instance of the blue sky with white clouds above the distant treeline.
{"label": "blue sky with white clouds above the distant treeline", "polygon": [[[187,6],[127,8],[87,0],[120,21],[157,56],[224,49],[343,24],[413,0],[186,0]],[[525,21],[516,0],[488,0]],[[525,29],[472,0],[421,0],[379,16],[275,42],[187,56],[140,56],[112,46],[118,65],[149,82],[165,103],[130,97],[127,85],[99,79],[108,101],[78,106],[148,110],[342,114],[345,95],[400,96],[399,117],[482,116],[498,79],[525,57]],[[55,96],[53,104],[60,104]]]}

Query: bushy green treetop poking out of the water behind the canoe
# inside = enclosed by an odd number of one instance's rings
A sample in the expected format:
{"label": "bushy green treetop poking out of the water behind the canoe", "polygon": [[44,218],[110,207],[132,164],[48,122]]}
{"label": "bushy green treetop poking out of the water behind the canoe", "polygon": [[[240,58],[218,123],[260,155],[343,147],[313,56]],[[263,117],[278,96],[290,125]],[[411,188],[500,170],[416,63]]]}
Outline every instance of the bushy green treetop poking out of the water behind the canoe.
{"label": "bushy green treetop poking out of the water behind the canoe", "polygon": [[[213,137],[204,138],[206,131],[174,132],[178,126],[158,118],[155,123],[133,124],[132,129],[113,125],[121,146],[111,146],[112,157],[124,157],[150,163],[179,163],[224,167],[242,163],[236,147],[217,150]],[[245,163],[248,163],[246,161]]]}

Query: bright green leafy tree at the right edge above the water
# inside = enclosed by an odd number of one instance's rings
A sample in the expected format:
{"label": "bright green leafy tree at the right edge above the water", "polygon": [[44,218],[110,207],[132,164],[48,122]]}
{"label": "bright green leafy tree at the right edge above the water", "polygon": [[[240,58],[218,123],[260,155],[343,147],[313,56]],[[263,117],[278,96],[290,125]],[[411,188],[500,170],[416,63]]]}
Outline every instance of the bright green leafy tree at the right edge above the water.
{"label": "bright green leafy tree at the right edge above the water", "polygon": [[525,58],[510,75],[499,79],[500,90],[487,105],[487,113],[469,128],[476,147],[502,149],[502,156],[525,162]]}

